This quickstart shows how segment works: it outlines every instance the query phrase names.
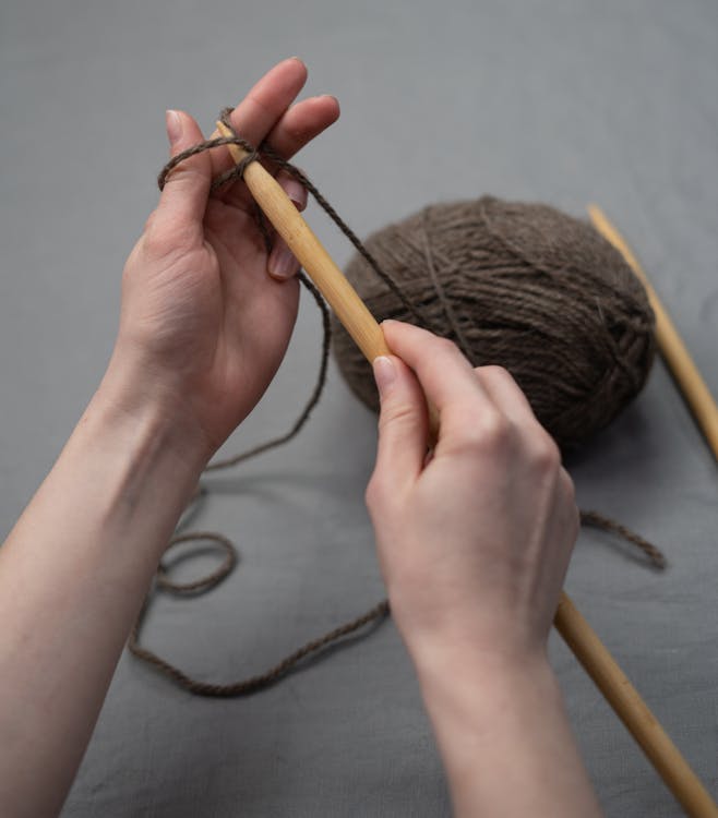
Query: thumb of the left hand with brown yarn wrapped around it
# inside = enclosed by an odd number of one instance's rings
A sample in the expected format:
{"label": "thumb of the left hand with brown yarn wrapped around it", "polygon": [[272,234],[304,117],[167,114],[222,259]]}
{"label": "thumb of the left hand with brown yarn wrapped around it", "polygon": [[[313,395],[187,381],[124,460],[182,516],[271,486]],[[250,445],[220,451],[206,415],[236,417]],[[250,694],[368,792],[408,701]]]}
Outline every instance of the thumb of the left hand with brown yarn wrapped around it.
{"label": "thumb of the left hand with brown yarn wrapped around it", "polygon": [[[198,123],[184,111],[167,111],[166,124],[171,156],[204,139]],[[182,161],[165,180],[154,224],[171,227],[177,233],[201,230],[211,184],[212,163],[206,153]]]}

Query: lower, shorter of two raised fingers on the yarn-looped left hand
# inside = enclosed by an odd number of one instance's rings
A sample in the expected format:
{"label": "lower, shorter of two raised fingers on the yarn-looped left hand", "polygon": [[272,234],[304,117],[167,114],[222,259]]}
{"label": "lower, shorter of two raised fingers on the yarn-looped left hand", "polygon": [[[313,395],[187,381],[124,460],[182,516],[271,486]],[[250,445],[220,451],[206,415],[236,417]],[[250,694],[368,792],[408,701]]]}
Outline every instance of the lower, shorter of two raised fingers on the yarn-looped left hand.
{"label": "lower, shorter of two raised fingers on the yarn-looped left hand", "polygon": [[[285,159],[292,157],[304,145],[311,142],[322,131],[326,130],[339,117],[339,105],[334,97],[311,97],[287,110],[275,124],[266,137],[266,143]],[[216,152],[229,156],[228,152]],[[265,167],[274,172],[275,163],[263,160]],[[231,166],[231,159],[226,167]],[[225,166],[222,166],[225,168]],[[226,169],[226,168],[225,168]],[[250,194],[243,184],[227,185],[220,191],[220,197],[227,203],[244,207],[250,201]]]}

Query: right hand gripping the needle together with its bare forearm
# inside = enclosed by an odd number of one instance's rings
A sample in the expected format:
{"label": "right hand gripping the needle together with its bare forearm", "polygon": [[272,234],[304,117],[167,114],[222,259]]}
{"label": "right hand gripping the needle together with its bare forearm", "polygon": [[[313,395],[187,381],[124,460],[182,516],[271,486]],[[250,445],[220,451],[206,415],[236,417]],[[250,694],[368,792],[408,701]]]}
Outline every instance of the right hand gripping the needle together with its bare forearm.
{"label": "right hand gripping the needle together with its bare forearm", "polygon": [[[394,621],[457,816],[600,816],[547,640],[578,529],[571,479],[511,375],[385,322],[367,490]],[[427,458],[426,398],[440,434]]]}

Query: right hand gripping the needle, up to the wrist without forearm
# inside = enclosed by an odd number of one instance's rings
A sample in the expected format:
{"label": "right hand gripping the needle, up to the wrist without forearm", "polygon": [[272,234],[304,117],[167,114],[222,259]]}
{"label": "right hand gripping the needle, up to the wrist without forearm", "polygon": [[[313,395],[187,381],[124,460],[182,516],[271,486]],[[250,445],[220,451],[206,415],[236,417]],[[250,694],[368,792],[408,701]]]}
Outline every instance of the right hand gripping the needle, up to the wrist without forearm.
{"label": "right hand gripping the needle, up to the wrist without forearm", "polygon": [[[546,650],[578,512],[559,450],[511,375],[385,322],[367,490],[392,613],[415,660],[466,650],[522,664]],[[400,359],[400,360],[399,360]],[[426,398],[440,414],[426,455]]]}

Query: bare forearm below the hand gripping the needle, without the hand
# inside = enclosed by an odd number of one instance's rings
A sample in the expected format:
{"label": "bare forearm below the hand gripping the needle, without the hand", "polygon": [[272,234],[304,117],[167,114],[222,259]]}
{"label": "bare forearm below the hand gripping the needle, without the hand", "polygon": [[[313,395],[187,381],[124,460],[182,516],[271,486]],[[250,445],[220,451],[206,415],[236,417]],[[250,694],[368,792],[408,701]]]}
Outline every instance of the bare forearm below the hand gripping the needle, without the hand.
{"label": "bare forearm below the hand gripping the needle, without the hand", "polygon": [[417,669],[458,818],[600,817],[543,658],[519,671],[435,654]]}

